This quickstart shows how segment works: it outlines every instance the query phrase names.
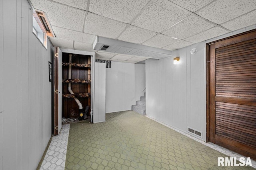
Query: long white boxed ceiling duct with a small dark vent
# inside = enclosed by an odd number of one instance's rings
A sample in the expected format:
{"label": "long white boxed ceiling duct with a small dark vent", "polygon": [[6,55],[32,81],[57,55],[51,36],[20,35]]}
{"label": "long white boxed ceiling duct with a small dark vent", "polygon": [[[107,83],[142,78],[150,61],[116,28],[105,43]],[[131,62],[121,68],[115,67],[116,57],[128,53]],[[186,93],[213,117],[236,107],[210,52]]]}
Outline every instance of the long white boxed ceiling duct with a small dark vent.
{"label": "long white boxed ceiling duct with a small dark vent", "polygon": [[172,51],[166,49],[148,47],[145,45],[128,43],[98,36],[93,43],[93,49],[117,54],[143,56],[153,59],[164,59],[172,56]]}

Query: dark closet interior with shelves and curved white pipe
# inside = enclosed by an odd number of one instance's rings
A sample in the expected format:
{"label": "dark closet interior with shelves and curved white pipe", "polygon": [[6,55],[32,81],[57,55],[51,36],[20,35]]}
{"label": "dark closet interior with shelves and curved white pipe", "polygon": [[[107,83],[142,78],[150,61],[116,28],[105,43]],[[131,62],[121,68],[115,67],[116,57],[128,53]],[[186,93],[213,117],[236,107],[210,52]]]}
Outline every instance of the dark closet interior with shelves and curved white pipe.
{"label": "dark closet interior with shelves and curved white pipe", "polygon": [[91,70],[91,56],[62,53],[62,117],[90,119]]}

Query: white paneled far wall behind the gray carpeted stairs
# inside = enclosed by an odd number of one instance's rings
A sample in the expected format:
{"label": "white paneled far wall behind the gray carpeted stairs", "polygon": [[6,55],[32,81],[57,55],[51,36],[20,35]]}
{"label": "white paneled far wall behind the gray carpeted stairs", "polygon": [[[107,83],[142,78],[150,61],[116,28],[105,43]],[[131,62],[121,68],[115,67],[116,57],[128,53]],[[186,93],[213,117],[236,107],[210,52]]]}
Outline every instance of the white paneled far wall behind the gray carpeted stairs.
{"label": "white paneled far wall behind the gray carpeted stairs", "polygon": [[106,113],[130,110],[144,95],[145,65],[112,62],[106,68]]}

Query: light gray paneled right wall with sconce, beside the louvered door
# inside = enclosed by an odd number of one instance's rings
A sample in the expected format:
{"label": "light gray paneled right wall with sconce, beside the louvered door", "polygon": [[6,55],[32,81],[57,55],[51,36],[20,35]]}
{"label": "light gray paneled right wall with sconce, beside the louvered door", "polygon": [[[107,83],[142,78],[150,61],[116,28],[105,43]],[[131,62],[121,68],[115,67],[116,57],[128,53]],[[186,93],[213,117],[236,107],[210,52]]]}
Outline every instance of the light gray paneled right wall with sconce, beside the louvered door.
{"label": "light gray paneled right wall with sconce, beside the louvered door", "polygon": [[[190,50],[196,48],[195,55]],[[146,61],[146,115],[184,132],[192,127],[206,140],[205,43],[173,51],[180,57]]]}

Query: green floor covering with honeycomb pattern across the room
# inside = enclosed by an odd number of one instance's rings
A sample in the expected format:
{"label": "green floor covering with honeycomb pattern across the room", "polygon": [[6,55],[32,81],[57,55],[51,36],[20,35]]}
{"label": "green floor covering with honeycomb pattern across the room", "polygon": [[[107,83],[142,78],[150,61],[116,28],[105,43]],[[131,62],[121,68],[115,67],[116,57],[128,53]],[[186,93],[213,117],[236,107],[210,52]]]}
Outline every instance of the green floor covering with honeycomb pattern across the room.
{"label": "green floor covering with honeycomb pattern across the room", "polygon": [[218,167],[227,157],[134,111],[70,124],[66,170],[253,169]]}

